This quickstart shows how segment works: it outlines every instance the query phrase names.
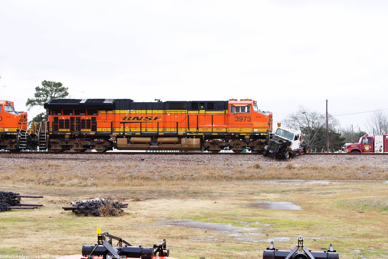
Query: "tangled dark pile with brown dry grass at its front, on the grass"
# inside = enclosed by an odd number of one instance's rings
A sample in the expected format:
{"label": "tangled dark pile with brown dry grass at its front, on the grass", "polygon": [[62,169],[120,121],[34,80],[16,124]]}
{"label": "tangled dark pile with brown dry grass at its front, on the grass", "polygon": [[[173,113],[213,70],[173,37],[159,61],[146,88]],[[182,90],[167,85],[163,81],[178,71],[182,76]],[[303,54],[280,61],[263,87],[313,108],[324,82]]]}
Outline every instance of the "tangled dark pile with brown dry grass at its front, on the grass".
{"label": "tangled dark pile with brown dry grass at its front, on the grass", "polygon": [[109,201],[105,199],[93,199],[84,201],[74,201],[71,206],[62,207],[64,210],[72,210],[77,215],[94,215],[94,216],[117,216],[128,208],[128,203],[118,201]]}

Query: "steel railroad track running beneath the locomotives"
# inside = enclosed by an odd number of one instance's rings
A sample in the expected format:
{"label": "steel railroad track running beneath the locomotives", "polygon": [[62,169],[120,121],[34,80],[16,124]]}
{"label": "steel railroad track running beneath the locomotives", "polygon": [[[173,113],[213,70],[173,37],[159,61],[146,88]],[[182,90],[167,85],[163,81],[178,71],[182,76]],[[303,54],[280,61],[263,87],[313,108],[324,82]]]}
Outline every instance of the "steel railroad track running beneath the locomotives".
{"label": "steel railroad track running beneath the locomotives", "polygon": [[[0,154],[61,154],[61,155],[241,155],[241,156],[261,156],[260,153],[211,153],[211,152],[7,152],[0,151]],[[387,156],[388,153],[308,153],[303,156]]]}

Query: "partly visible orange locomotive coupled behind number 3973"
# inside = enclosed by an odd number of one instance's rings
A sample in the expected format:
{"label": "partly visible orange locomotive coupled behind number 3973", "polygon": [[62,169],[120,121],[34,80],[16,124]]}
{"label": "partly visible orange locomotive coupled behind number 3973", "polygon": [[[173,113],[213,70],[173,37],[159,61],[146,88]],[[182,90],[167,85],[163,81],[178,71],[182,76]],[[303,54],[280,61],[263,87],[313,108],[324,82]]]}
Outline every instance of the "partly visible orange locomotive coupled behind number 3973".
{"label": "partly visible orange locomotive coupled behind number 3973", "polygon": [[[0,100],[0,149],[19,151],[21,135],[27,131],[27,112],[16,112],[12,101]],[[27,147],[27,146],[25,146]]]}

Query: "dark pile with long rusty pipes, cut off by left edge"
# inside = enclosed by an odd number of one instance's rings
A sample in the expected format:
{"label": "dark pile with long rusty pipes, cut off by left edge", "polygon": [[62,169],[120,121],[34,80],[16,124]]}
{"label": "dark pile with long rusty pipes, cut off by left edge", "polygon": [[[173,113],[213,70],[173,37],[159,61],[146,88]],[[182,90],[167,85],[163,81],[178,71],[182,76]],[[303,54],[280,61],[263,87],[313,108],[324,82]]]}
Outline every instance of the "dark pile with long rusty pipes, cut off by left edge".
{"label": "dark pile with long rusty pipes, cut off by left edge", "polygon": [[43,196],[20,195],[20,193],[0,191],[0,212],[7,210],[33,210],[43,204],[20,203],[21,198],[43,198]]}

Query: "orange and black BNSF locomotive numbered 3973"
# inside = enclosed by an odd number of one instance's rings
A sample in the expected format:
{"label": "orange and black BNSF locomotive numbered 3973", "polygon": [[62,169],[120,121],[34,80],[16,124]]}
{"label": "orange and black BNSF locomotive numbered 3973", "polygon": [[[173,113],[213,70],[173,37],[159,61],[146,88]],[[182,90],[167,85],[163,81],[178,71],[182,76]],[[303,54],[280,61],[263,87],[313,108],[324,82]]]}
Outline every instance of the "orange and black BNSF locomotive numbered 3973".
{"label": "orange and black BNSF locomotive numbered 3973", "polygon": [[272,112],[260,111],[250,99],[50,99],[44,107],[49,113],[47,148],[52,151],[261,152],[272,132]]}

